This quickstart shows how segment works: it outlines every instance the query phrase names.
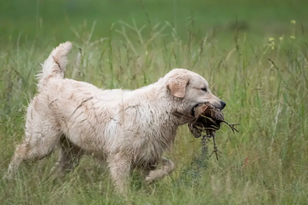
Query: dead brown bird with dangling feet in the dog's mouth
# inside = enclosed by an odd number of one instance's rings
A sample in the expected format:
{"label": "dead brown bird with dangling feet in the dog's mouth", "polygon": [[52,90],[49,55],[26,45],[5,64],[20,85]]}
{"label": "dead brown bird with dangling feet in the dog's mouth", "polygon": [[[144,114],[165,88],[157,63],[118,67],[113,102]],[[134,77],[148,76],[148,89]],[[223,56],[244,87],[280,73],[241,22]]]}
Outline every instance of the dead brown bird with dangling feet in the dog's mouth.
{"label": "dead brown bird with dangling feet in the dog's mouth", "polygon": [[[195,138],[199,138],[202,135],[202,132],[206,132],[206,136],[209,138],[213,137],[214,148],[210,157],[215,152],[217,160],[218,160],[217,152],[220,151],[218,150],[215,143],[216,130],[219,130],[221,123],[224,122],[229,125],[229,127],[232,129],[234,133],[234,130],[237,131],[237,129],[234,128],[234,126],[239,124],[239,123],[229,124],[227,121],[225,121],[223,112],[209,103],[200,104],[197,107],[193,108],[192,117],[186,115],[185,116],[181,115],[181,117],[182,120],[188,121],[188,128]],[[205,140],[203,139],[202,142],[205,142]]]}

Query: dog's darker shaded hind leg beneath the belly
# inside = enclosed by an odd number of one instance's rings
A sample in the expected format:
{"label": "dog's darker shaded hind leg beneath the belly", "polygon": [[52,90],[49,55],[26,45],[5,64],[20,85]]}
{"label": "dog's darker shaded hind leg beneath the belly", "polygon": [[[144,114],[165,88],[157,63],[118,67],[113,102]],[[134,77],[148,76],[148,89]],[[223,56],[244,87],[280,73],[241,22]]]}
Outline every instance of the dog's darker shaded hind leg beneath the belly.
{"label": "dog's darker shaded hind leg beneath the belly", "polygon": [[58,169],[58,174],[62,175],[66,171],[75,168],[80,158],[83,156],[83,151],[71,143],[64,135],[60,140],[60,151],[58,161],[55,163],[51,171]]}

